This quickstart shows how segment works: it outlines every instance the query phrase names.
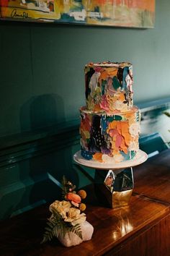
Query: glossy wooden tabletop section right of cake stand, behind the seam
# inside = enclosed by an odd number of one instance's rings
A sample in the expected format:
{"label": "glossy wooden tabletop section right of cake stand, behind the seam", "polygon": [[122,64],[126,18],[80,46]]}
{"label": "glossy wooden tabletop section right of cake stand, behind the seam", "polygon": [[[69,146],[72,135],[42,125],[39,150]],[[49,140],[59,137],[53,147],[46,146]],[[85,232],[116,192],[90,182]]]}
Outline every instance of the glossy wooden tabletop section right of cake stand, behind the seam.
{"label": "glossy wooden tabletop section right of cake stand, behind the seam", "polygon": [[133,168],[133,176],[134,193],[170,204],[170,150],[165,150],[145,164]]}

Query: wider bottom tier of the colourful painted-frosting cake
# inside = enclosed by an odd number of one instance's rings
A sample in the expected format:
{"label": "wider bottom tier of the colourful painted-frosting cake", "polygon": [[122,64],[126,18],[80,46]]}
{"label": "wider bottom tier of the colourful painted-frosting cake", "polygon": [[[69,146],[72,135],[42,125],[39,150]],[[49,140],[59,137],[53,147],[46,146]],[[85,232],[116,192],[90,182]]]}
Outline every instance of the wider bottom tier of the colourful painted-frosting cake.
{"label": "wider bottom tier of the colourful painted-frosting cake", "polygon": [[139,149],[140,110],[94,113],[81,108],[81,155],[87,160],[119,163],[135,157]]}

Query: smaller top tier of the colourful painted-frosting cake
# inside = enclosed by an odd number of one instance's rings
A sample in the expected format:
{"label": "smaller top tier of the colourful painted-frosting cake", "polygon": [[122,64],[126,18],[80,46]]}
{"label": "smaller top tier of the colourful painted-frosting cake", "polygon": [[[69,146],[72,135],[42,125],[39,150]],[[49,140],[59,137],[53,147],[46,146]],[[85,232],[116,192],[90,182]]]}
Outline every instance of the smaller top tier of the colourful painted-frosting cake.
{"label": "smaller top tier of the colourful painted-frosting cake", "polygon": [[128,111],[133,106],[133,66],[130,63],[86,64],[86,107],[99,112]]}

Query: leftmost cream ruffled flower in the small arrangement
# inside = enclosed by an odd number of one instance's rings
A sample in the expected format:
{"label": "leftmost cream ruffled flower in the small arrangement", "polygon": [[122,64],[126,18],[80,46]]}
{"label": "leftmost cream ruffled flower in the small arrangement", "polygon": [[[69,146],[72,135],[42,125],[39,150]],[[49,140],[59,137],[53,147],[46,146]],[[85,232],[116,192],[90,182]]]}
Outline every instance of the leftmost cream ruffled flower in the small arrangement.
{"label": "leftmost cream ruffled flower in the small arrangement", "polygon": [[69,209],[71,208],[71,203],[68,201],[58,201],[55,200],[51,205],[50,205],[50,212],[58,212],[62,216],[62,218],[66,218],[66,213],[68,213]]}

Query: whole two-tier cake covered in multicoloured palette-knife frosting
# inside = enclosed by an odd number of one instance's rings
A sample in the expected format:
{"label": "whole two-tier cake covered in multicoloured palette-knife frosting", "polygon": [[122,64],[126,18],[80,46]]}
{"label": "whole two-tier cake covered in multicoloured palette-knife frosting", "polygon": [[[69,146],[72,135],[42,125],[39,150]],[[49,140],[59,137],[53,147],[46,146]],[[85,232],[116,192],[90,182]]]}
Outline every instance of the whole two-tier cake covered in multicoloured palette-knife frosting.
{"label": "whole two-tier cake covered in multicoloured palette-knife frosting", "polygon": [[81,155],[119,163],[138,152],[140,110],[133,106],[133,67],[102,62],[85,67],[86,107],[81,108]]}

